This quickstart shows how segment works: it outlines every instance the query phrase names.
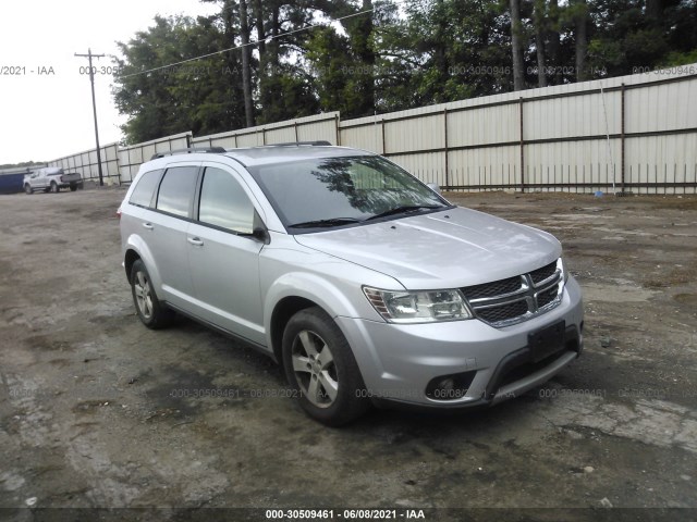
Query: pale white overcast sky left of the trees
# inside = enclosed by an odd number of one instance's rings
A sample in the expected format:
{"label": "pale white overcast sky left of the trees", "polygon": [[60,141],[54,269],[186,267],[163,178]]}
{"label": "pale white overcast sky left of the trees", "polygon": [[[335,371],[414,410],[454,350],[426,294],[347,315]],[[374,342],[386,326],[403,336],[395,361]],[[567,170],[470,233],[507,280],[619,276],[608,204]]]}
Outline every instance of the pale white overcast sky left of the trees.
{"label": "pale white overcast sky left of the trees", "polygon": [[[0,164],[51,161],[95,148],[86,58],[112,65],[117,41],[154,25],[156,14],[213,14],[217,4],[197,0],[9,0],[0,7]],[[81,67],[83,67],[81,70]],[[99,142],[122,139],[111,96],[112,76],[95,75]]]}

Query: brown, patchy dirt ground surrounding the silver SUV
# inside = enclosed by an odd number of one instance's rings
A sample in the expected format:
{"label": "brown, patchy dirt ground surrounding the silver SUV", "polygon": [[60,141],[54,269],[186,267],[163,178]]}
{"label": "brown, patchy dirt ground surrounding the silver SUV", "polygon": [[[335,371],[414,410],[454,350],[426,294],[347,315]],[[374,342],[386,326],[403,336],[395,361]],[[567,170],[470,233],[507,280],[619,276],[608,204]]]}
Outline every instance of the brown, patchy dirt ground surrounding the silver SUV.
{"label": "brown, patchy dirt ground surrounding the silver SUV", "polygon": [[450,195],[562,240],[586,351],[496,408],[375,411],[332,430],[280,397],[280,369],[253,349],[187,320],[139,323],[120,264],[123,195],[0,197],[0,519],[96,507],[697,518],[694,196]]}

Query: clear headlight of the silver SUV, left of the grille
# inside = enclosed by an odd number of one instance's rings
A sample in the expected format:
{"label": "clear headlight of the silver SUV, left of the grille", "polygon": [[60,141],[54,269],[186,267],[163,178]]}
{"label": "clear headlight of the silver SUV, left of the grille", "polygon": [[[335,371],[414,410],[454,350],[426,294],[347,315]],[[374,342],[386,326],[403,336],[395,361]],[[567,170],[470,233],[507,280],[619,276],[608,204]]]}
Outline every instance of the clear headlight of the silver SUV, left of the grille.
{"label": "clear headlight of the silver SUV, left of the grille", "polygon": [[372,307],[391,323],[462,321],[472,312],[460,290],[393,291],[363,287]]}

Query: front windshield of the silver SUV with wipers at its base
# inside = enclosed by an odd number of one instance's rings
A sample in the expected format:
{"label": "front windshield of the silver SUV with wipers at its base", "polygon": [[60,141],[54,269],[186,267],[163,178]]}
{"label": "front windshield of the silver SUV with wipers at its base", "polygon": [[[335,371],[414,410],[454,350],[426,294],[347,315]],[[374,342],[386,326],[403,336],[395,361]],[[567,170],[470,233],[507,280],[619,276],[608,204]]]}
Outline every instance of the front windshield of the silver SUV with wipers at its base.
{"label": "front windshield of the silver SUV with wipers at its base", "polygon": [[378,156],[308,159],[249,170],[286,228],[351,226],[449,203]]}

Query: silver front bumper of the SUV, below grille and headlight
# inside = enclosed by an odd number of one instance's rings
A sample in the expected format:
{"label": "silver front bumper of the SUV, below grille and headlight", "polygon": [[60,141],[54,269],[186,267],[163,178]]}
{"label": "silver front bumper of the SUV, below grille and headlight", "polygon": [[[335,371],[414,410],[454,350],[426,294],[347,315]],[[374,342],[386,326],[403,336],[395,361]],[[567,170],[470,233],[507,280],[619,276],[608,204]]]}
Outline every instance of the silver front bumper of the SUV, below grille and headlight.
{"label": "silver front bumper of the SUV, below grille and headlight", "polygon": [[[494,328],[478,320],[400,325],[337,318],[375,402],[456,409],[498,403],[538,386],[583,351],[583,300],[570,277],[561,303],[529,321]],[[564,322],[559,350],[535,360],[529,335]],[[462,375],[462,393],[427,395],[440,377]]]}

